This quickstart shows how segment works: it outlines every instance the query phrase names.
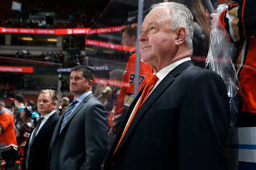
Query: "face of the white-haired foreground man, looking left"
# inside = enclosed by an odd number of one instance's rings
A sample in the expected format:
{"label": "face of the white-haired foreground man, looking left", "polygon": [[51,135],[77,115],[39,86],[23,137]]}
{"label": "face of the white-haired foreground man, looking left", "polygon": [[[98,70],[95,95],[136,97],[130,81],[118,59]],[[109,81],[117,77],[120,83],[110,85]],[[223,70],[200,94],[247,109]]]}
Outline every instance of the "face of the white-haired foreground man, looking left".
{"label": "face of the white-haired foreground man, looking left", "polygon": [[165,7],[157,7],[146,15],[142,27],[140,52],[143,61],[151,67],[164,62],[175,52],[175,31],[170,30],[171,13]]}

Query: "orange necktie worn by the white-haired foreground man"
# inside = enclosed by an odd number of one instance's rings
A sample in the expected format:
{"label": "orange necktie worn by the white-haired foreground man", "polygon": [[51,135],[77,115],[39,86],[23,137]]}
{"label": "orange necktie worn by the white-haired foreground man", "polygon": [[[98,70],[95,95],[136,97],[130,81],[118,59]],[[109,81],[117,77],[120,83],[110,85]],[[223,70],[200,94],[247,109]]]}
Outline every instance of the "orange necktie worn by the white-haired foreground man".
{"label": "orange necktie worn by the white-haired foreground man", "polygon": [[[129,126],[130,126],[130,124],[131,124],[131,122],[132,122],[132,120],[133,120],[133,117],[135,116],[135,114],[137,113],[138,109],[139,109],[140,106],[143,104],[143,102],[146,100],[146,98],[147,98],[147,96],[148,96],[148,94],[149,94],[151,88],[154,86],[154,84],[156,83],[157,80],[158,80],[158,78],[157,78],[157,76],[156,76],[155,74],[151,75],[151,77],[149,78],[149,80],[148,80],[148,82],[147,82],[145,88],[144,88],[143,91],[142,91],[142,94],[141,94],[139,103],[138,103],[137,107],[135,108],[134,113],[133,113],[133,115],[132,115],[132,117],[131,117],[129,123],[127,124],[127,126],[126,126],[126,128],[125,128],[125,130],[124,130],[124,132],[123,132],[123,134],[122,134],[122,137],[120,138],[120,140],[119,140],[119,142],[118,142],[118,144],[117,144],[117,147],[116,147],[116,149],[115,149],[115,152],[116,152],[117,148],[119,147],[119,145],[120,145],[122,139],[124,138],[124,135],[125,135],[127,129],[129,128]],[[114,152],[114,154],[115,154],[115,152]]]}

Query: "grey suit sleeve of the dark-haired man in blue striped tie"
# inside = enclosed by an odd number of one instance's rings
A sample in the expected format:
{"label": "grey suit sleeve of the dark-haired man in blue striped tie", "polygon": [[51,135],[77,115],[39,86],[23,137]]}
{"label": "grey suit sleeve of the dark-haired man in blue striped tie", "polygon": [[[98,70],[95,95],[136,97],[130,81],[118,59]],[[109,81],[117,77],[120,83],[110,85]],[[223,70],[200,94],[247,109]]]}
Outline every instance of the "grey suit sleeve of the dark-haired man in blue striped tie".
{"label": "grey suit sleeve of the dark-haired man in blue striped tie", "polygon": [[86,162],[81,169],[100,169],[107,152],[108,117],[103,105],[93,105],[85,118]]}

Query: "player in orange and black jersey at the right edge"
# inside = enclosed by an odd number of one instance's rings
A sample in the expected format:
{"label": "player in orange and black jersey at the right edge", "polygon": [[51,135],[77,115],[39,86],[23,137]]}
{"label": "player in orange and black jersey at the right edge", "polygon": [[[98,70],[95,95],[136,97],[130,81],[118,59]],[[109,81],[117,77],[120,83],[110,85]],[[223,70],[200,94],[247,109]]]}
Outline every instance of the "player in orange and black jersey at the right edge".
{"label": "player in orange and black jersey at the right edge", "polygon": [[[223,1],[225,2],[225,1]],[[226,2],[225,2],[226,3]],[[212,23],[220,21],[238,51],[233,62],[239,80],[238,127],[256,126],[256,11],[255,1],[239,0],[220,15],[211,14]],[[221,27],[221,25],[218,27]]]}

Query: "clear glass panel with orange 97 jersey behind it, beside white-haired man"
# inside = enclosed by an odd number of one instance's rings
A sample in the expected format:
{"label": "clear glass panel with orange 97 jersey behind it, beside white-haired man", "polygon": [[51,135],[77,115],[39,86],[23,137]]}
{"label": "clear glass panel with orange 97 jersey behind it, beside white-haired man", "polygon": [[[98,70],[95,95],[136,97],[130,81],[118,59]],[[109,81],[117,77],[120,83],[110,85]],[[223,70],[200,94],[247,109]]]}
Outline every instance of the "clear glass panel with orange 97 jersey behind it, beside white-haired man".
{"label": "clear glass panel with orange 97 jersey behind it, beside white-haired man", "polygon": [[[162,1],[142,1],[144,8],[139,10],[145,15],[158,2]],[[111,1],[85,38],[85,64],[95,73],[94,95],[105,105],[113,133],[134,99],[134,88],[141,90],[153,73],[137,58],[138,3]]]}

